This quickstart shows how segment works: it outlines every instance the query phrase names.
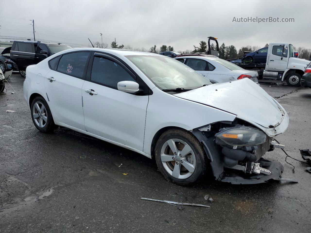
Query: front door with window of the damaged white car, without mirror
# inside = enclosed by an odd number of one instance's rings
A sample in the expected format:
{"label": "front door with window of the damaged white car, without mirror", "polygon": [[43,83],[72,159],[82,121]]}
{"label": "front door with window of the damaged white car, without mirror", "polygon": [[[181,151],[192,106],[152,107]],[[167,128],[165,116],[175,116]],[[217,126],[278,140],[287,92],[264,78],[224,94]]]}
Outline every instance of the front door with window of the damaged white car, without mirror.
{"label": "front door with window of the damaged white car, without mirror", "polygon": [[118,82],[137,80],[117,59],[95,54],[90,63],[82,87],[86,130],[142,151],[149,96],[118,90]]}

